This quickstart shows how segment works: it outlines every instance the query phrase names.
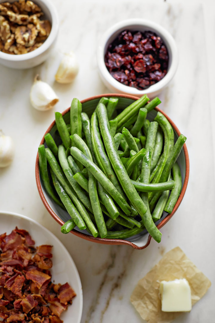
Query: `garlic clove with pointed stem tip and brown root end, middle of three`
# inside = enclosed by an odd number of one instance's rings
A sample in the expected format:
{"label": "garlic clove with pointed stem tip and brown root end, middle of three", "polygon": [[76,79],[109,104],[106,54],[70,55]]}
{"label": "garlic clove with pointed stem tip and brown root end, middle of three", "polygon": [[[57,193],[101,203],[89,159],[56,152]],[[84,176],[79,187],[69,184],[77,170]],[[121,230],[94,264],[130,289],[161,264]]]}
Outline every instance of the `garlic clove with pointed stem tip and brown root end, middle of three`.
{"label": "garlic clove with pointed stem tip and brown root end, middle of three", "polygon": [[46,111],[54,107],[59,101],[54,90],[47,83],[41,81],[36,75],[34,84],[30,92],[30,100],[32,106],[40,111]]}

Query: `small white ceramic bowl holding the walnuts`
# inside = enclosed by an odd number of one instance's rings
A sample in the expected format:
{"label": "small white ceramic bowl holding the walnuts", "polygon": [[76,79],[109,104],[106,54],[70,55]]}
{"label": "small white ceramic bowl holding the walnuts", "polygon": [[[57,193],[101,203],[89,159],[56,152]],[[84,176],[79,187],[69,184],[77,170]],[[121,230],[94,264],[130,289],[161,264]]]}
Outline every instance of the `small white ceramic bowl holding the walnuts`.
{"label": "small white ceramic bowl holding the walnuts", "polygon": [[[7,1],[12,3],[15,0]],[[0,0],[0,3],[2,2],[5,2],[5,0]],[[48,19],[51,22],[51,32],[44,43],[32,52],[13,55],[0,51],[0,64],[6,67],[24,69],[37,66],[48,58],[52,48],[54,47],[59,29],[57,10],[50,0],[35,0],[34,2],[42,9],[45,19]]]}

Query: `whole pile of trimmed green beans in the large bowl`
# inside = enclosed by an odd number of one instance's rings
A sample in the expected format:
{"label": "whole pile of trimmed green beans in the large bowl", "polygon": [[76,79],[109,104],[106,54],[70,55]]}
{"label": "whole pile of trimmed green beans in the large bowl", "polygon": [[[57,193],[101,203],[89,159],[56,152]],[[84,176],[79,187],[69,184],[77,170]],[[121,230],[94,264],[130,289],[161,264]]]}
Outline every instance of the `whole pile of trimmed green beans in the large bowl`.
{"label": "whole pile of trimmed green beans in the large bowl", "polygon": [[44,189],[71,217],[62,233],[77,226],[94,237],[126,239],[146,229],[161,241],[155,222],[181,193],[177,158],[186,137],[174,143],[161,112],[147,119],[160,103],[144,95],[117,114],[118,99],[103,97],[89,118],[75,98],[69,124],[55,112],[57,144],[47,133],[38,154]]}

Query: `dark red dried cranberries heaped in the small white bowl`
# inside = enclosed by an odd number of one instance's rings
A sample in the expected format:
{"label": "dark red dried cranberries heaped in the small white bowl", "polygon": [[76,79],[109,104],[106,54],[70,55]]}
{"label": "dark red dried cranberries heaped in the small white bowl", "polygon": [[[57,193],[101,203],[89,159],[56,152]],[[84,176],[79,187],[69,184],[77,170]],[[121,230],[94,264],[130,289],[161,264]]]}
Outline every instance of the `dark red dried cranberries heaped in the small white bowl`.
{"label": "dark red dried cranberries heaped in the small white bowl", "polygon": [[118,82],[143,90],[166,75],[169,55],[154,32],[124,30],[108,46],[104,61]]}

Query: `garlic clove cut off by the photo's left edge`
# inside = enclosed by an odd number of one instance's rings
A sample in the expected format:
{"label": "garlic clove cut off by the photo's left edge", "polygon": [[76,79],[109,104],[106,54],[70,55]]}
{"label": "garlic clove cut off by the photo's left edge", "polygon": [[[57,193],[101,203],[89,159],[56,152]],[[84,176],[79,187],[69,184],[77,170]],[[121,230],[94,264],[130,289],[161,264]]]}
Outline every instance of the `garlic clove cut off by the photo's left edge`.
{"label": "garlic clove cut off by the photo's left edge", "polygon": [[9,136],[0,134],[0,167],[10,165],[14,158],[14,143]]}

